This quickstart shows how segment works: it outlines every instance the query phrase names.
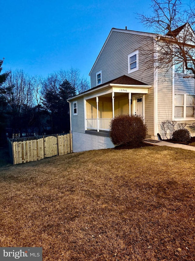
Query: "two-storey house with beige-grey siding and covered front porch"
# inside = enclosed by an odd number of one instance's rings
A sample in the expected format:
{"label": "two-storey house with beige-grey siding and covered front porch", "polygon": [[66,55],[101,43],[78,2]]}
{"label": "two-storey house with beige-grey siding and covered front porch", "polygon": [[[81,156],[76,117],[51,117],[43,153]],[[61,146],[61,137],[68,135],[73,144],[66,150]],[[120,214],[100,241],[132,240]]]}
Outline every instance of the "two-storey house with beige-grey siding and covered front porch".
{"label": "two-storey house with beige-grey siding and covered front porch", "polygon": [[155,139],[164,135],[167,119],[195,121],[194,79],[175,73],[174,66],[166,72],[154,66],[156,53],[147,48],[156,50],[158,42],[154,33],[112,28],[89,73],[91,89],[68,99],[74,152],[114,147],[109,125],[116,115],[141,115]]}

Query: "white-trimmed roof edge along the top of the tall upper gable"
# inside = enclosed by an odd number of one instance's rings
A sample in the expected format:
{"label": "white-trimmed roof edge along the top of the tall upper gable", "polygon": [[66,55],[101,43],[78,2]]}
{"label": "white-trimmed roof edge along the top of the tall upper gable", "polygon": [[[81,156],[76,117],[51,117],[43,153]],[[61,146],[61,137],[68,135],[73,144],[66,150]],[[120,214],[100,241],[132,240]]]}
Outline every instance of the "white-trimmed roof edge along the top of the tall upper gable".
{"label": "white-trimmed roof edge along the top of the tall upper gable", "polygon": [[96,63],[97,63],[97,61],[98,61],[98,59],[99,59],[99,57],[100,57],[102,51],[104,50],[104,47],[105,47],[106,43],[108,42],[108,39],[110,38],[112,32],[122,32],[122,33],[127,33],[127,34],[143,35],[143,36],[149,36],[149,37],[154,37],[154,38],[155,38],[157,35],[159,36],[159,34],[155,34],[155,33],[147,33],[147,32],[139,32],[139,31],[127,30],[127,29],[112,28],[111,31],[110,31],[110,33],[109,33],[109,35],[108,35],[108,37],[107,37],[107,39],[106,39],[106,41],[105,41],[105,43],[104,43],[104,45],[103,45],[103,47],[101,48],[100,53],[98,54],[97,59],[96,59],[95,62],[94,62],[93,67],[92,67],[91,70],[90,70],[89,76],[91,75],[91,72],[92,72],[92,70],[94,69],[94,66],[96,65]]}

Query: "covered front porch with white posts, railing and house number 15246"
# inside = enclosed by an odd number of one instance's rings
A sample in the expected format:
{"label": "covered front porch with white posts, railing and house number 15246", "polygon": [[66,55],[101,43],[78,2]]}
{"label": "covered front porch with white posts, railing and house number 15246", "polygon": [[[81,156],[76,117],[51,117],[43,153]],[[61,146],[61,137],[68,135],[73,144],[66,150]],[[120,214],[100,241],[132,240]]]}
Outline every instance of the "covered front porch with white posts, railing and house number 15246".
{"label": "covered front porch with white posts, railing and house number 15246", "polygon": [[106,93],[85,97],[85,130],[109,131],[113,117],[137,114],[145,117],[145,94],[151,86],[117,86]]}

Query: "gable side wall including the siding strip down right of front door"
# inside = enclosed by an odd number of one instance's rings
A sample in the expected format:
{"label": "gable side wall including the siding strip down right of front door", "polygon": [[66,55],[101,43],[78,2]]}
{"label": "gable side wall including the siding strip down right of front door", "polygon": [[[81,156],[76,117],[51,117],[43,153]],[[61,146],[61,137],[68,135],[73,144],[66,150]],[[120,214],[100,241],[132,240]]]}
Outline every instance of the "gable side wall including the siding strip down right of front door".
{"label": "gable side wall including the siding strip down right of front door", "polygon": [[[149,47],[148,47],[149,46]],[[153,48],[153,39],[130,34],[127,32],[115,32],[110,35],[100,57],[98,58],[92,72],[91,88],[96,86],[96,73],[102,71],[102,83],[115,79],[122,75],[127,75],[146,84],[154,84],[153,64],[147,62],[150,60],[144,56],[144,51]],[[139,50],[139,69],[128,73],[128,55]],[[145,51],[145,55],[146,55]],[[148,54],[148,53],[147,53]],[[154,133],[154,88],[149,89],[145,95],[145,121],[148,128],[148,134]]]}

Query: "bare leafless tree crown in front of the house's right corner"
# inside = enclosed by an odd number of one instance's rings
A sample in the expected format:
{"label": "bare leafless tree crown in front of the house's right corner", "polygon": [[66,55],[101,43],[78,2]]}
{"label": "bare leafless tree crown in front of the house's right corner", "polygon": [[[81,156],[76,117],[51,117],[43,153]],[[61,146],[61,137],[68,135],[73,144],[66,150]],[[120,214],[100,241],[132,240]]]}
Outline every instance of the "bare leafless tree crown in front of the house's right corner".
{"label": "bare leafless tree crown in front of the house's right corner", "polygon": [[[179,0],[152,0],[153,16],[138,14],[140,21],[157,33],[154,46],[147,45],[147,57],[153,55],[157,67],[191,74],[195,78],[195,5],[185,9]],[[156,47],[156,48],[154,48]],[[146,50],[146,48],[143,48]]]}

